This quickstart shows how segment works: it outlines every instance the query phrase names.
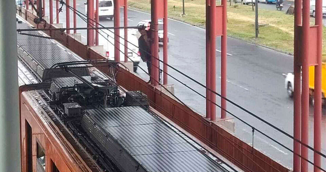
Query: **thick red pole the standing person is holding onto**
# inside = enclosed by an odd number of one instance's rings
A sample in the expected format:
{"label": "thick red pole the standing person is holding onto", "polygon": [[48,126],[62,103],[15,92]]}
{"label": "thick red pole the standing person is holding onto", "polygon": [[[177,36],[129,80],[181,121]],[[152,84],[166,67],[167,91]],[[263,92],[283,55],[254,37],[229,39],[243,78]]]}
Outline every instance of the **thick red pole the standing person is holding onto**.
{"label": "thick red pole the standing person is holding onto", "polygon": [[152,29],[152,71],[153,71],[153,79],[151,80],[152,84],[154,86],[158,86],[158,75],[159,75],[159,61],[157,58],[159,58],[158,56],[158,0],[152,0],[152,20],[151,20],[151,29]]}

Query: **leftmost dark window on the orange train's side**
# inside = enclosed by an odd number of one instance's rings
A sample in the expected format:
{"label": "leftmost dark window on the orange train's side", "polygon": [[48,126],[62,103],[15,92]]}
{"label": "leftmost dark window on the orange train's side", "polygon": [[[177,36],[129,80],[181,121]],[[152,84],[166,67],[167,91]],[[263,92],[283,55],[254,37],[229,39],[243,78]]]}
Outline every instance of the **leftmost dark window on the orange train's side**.
{"label": "leftmost dark window on the orange train's side", "polygon": [[25,120],[25,138],[26,138],[26,171],[33,172],[33,154],[32,154],[32,127]]}

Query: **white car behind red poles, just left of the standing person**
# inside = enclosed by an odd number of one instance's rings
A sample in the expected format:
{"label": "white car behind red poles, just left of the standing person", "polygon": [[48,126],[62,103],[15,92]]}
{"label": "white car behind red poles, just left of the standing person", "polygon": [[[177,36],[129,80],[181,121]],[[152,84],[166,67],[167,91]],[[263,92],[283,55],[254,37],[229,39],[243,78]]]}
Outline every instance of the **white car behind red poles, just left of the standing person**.
{"label": "white car behind red poles, just left of the standing person", "polygon": [[[112,32],[114,30],[111,30]],[[103,32],[107,33],[109,36],[107,36],[107,34],[104,34]],[[106,29],[102,29],[102,31],[100,31],[100,33],[102,33],[102,35],[105,36],[105,38],[103,36],[101,36],[99,34],[98,36],[98,43],[99,45],[103,45],[103,50],[104,50],[104,54],[105,56],[109,59],[109,60],[114,60],[114,33],[110,32],[109,30]],[[124,61],[125,60],[125,40],[124,38],[124,29],[120,29],[120,61]],[[108,41],[108,40],[109,41]],[[139,55],[138,52],[138,39],[137,37],[134,35],[134,32],[132,30],[128,29],[128,41],[130,43],[128,43],[128,61],[133,61],[134,63],[134,72],[137,71],[138,68],[138,64],[140,63],[141,57]],[[111,43],[110,43],[111,42]]]}

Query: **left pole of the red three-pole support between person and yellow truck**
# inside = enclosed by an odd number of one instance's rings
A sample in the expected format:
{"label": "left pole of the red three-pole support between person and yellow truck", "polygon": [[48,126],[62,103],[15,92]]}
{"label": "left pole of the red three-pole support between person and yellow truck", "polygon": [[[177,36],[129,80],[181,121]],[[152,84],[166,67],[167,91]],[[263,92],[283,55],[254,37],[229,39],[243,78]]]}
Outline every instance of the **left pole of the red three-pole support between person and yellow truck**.
{"label": "left pole of the red three-pole support between person and yellow truck", "polygon": [[210,4],[211,0],[206,0],[206,118],[211,119],[211,49],[210,49]]}

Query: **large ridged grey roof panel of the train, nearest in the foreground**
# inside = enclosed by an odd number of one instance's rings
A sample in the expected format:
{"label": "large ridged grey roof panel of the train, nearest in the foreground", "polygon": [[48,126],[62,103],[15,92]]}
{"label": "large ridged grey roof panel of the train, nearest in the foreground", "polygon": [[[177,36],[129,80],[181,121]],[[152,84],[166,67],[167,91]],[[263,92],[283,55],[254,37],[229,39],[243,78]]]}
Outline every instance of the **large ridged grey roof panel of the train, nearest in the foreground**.
{"label": "large ridged grey roof panel of the train, nearest in the foreground", "polygon": [[86,110],[83,121],[104,149],[112,136],[147,171],[226,171],[139,106]]}

